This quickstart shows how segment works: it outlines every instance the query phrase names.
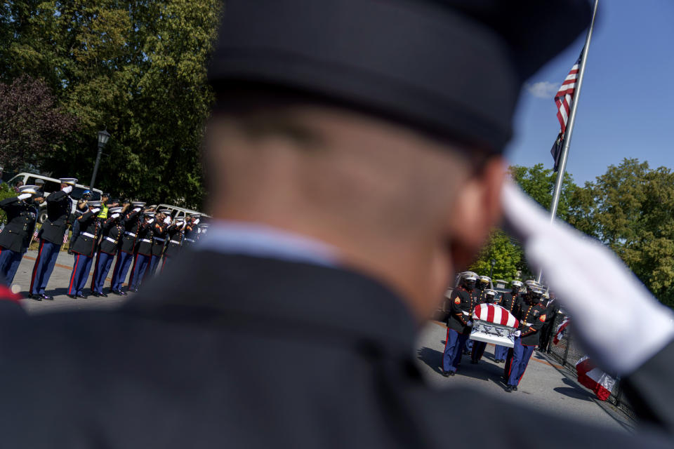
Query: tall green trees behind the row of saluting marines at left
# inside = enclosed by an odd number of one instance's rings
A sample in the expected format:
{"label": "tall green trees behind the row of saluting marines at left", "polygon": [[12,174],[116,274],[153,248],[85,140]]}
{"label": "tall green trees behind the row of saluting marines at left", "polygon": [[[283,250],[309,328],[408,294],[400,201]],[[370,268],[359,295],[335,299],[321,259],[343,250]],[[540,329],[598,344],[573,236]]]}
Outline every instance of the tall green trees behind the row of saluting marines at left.
{"label": "tall green trees behind the row of saluting marines at left", "polygon": [[218,0],[6,1],[0,79],[44,79],[81,123],[39,168],[86,182],[96,133],[107,127],[97,187],[199,207],[213,102],[206,65],[220,8]]}

